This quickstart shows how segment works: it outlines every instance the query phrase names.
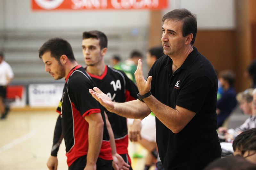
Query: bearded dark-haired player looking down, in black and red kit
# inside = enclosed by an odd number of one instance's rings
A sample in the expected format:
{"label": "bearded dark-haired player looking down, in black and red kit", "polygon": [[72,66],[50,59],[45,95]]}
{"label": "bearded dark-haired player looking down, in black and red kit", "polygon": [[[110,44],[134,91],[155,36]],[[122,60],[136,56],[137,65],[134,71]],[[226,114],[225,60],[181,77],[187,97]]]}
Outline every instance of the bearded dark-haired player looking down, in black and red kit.
{"label": "bearded dark-haired player looking down, in black and red kit", "polygon": [[[55,80],[65,78],[56,123],[56,128],[61,127],[61,131],[55,131],[54,135],[63,134],[69,169],[112,169],[110,137],[103,107],[87,92],[95,84],[76,62],[70,44],[60,38],[50,39],[39,49],[39,57],[45,63],[45,71]],[[57,138],[62,139],[61,135]],[[54,147],[58,148],[58,144]],[[53,151],[47,162],[49,169],[57,169],[55,154]]]}

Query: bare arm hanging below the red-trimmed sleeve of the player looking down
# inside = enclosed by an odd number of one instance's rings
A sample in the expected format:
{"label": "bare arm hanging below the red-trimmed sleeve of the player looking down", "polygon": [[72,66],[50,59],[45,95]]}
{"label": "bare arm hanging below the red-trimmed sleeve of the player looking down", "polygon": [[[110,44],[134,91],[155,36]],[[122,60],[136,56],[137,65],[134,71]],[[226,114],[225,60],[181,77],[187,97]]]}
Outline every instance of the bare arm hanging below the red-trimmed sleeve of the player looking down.
{"label": "bare arm hanging below the red-trimmed sleeve of the player looking down", "polygon": [[103,123],[90,122],[88,129],[87,164],[96,164],[103,140]]}

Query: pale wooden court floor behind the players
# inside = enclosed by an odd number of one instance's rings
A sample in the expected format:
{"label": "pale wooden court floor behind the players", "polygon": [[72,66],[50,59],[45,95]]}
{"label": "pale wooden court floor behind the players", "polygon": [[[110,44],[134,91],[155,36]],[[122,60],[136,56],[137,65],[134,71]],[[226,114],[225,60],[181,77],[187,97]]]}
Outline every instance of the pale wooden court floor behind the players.
{"label": "pale wooden court floor behind the players", "polygon": [[[0,170],[47,170],[57,116],[49,109],[11,111],[5,120],[0,120]],[[133,154],[133,143],[129,144],[128,151],[129,155]],[[145,158],[144,148],[138,146],[137,151]],[[132,159],[134,170],[143,169],[144,158]],[[59,170],[68,169],[64,141],[58,161]]]}

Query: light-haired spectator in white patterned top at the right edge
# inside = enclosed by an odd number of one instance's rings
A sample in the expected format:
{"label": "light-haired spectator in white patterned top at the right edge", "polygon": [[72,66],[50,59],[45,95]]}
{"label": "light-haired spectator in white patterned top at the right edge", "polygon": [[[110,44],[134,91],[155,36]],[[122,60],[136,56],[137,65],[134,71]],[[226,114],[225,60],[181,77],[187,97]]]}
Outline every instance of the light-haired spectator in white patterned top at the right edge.
{"label": "light-haired spectator in white patterned top at the right edge", "polygon": [[241,132],[252,129],[256,127],[256,113],[252,112],[252,99],[253,96],[255,96],[256,100],[256,95],[253,95],[254,90],[253,89],[247,89],[244,92],[240,92],[237,94],[237,100],[240,103],[239,108],[244,112],[246,115],[251,115],[248,119],[245,120],[245,122],[234,128],[234,129],[228,129],[226,127],[219,127],[218,131],[221,134],[225,134],[225,139],[226,140],[234,140],[234,138],[239,135]]}

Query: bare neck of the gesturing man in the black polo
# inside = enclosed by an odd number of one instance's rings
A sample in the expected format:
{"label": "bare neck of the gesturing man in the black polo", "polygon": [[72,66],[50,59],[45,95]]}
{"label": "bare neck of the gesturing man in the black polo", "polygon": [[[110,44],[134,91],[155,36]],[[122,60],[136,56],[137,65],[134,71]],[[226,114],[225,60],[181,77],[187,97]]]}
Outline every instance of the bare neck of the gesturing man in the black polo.
{"label": "bare neck of the gesturing man in the black polo", "polygon": [[180,66],[184,63],[186,60],[187,56],[193,51],[193,46],[190,45],[188,46],[184,51],[182,51],[178,55],[172,55],[170,58],[172,59],[172,68],[173,70],[177,70],[180,68]]}

